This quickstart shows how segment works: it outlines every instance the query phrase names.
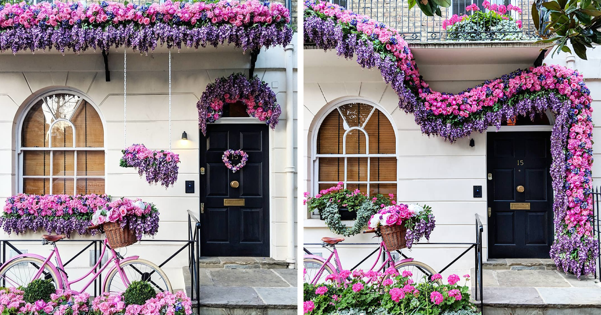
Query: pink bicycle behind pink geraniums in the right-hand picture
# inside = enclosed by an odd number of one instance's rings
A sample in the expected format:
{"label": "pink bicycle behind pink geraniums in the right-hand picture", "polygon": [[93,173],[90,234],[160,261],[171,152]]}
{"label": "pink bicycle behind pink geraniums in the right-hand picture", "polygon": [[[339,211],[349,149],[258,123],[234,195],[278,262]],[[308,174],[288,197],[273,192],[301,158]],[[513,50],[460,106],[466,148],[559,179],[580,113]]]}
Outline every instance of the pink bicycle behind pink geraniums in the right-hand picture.
{"label": "pink bicycle behind pink geraniums in the right-hand picture", "polygon": [[[378,230],[365,230],[362,233],[376,233],[376,236],[381,236]],[[342,263],[340,262],[340,257],[338,256],[338,250],[336,249],[336,244],[344,241],[344,238],[322,238],[322,247],[331,251],[330,256],[325,259],[323,257],[317,255],[305,255],[303,258],[303,265],[305,268],[304,273],[304,282],[310,283],[313,285],[321,284],[326,282],[326,277],[328,275],[334,274],[337,275],[335,281],[338,284],[346,283],[347,279],[343,279],[340,277],[340,272],[343,271]],[[403,271],[410,271],[412,273],[412,280],[414,282],[418,282],[422,280],[424,277],[430,279],[432,275],[436,274],[436,271],[432,269],[432,267],[426,265],[423,262],[418,262],[413,260],[413,258],[406,258],[400,260],[398,262],[394,261],[392,254],[389,250],[386,249],[386,244],[384,241],[380,240],[379,249],[374,250],[371,254],[365,257],[361,262],[359,262],[353,269],[357,268],[361,263],[365,262],[371,255],[378,252],[376,256],[376,261],[371,265],[369,270],[383,272],[389,267],[394,267],[397,269],[399,274],[402,274]],[[385,258],[377,269],[377,263],[379,257],[382,257],[382,253],[385,254]],[[398,251],[399,254],[400,251]],[[332,258],[334,259],[335,266],[331,263]],[[389,276],[386,275],[382,280],[385,280]],[[369,282],[368,280],[367,282]],[[440,281],[440,280],[439,280]],[[439,282],[438,281],[438,282]],[[442,283],[439,283],[442,284]]]}

